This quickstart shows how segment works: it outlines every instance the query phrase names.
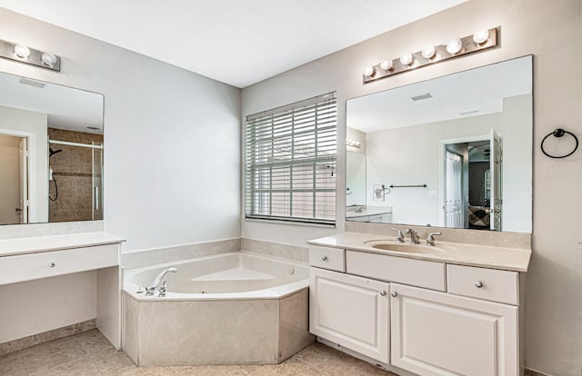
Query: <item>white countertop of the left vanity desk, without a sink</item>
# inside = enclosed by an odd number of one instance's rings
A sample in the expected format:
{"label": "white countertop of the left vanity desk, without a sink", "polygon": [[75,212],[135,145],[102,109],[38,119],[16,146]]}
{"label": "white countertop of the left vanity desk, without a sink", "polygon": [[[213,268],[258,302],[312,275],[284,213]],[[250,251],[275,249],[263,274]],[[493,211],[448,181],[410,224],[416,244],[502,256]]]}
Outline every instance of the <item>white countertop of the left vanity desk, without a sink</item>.
{"label": "white countertop of the left vanity desk, without a sink", "polygon": [[74,233],[0,240],[0,257],[15,254],[50,252],[94,245],[115,244],[125,239],[109,233]]}

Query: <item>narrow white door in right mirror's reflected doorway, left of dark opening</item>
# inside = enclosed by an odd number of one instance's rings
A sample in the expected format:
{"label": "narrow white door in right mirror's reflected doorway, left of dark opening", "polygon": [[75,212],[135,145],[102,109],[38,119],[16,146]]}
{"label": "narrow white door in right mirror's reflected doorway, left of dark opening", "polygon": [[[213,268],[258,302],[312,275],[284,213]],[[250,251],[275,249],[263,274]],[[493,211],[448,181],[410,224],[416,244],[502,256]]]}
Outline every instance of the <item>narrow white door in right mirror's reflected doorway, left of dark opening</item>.
{"label": "narrow white door in right mirror's reflected doorway, left of dark opening", "polygon": [[445,221],[451,228],[463,228],[463,157],[447,150]]}

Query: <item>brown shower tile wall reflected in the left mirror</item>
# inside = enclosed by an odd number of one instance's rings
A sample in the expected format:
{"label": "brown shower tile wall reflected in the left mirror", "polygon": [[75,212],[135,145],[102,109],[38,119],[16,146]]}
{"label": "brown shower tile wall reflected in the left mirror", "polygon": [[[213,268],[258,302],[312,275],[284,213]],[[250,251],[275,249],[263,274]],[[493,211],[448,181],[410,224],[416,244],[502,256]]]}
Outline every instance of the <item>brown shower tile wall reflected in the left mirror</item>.
{"label": "brown shower tile wall reflected in the left mirror", "polygon": [[[51,140],[73,143],[103,143],[102,134],[86,134],[48,128]],[[51,144],[53,150],[62,150],[50,158],[53,176],[58,186],[55,201],[49,201],[49,222],[89,221],[93,219],[92,205],[92,149]],[[98,176],[100,178],[100,176]],[[49,194],[56,196],[55,182],[49,183]],[[103,219],[103,213],[96,213],[95,219]]]}

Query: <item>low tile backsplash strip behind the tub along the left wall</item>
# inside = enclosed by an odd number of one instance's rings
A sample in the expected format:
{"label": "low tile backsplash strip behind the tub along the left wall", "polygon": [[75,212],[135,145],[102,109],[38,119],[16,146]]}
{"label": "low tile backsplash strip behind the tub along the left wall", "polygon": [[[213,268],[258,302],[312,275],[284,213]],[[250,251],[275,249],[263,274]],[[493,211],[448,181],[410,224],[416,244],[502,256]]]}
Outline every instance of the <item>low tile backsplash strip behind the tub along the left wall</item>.
{"label": "low tile backsplash strip behind the tub along the left wall", "polygon": [[128,270],[240,250],[240,238],[215,242],[196,242],[151,250],[124,252],[121,254],[121,263]]}

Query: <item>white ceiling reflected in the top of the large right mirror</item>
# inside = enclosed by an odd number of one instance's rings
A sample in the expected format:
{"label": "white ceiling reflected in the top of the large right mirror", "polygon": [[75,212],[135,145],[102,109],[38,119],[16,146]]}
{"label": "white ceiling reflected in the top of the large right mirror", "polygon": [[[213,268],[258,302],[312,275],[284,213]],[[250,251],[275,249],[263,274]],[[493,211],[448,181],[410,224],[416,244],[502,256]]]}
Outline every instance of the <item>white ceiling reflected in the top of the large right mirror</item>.
{"label": "white ceiling reflected in the top of the large right mirror", "polygon": [[[494,114],[503,111],[503,98],[531,92],[531,58],[513,59],[350,99],[346,124],[368,133]],[[432,97],[411,99],[423,94]]]}

